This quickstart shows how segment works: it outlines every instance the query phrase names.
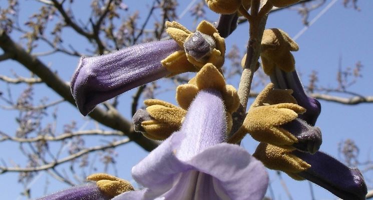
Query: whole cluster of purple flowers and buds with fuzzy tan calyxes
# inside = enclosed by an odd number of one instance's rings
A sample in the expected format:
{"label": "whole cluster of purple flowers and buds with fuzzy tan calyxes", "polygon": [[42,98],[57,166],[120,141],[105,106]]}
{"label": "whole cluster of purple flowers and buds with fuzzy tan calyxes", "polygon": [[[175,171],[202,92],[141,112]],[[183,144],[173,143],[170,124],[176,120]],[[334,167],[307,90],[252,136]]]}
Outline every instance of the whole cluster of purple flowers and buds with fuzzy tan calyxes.
{"label": "whole cluster of purple flowers and buds with fuzzy tan calyxes", "polygon": [[[235,29],[237,11],[246,12],[250,6],[247,0],[206,2],[212,10],[226,14],[221,16],[222,24],[230,25],[223,37]],[[269,0],[270,6],[281,7],[295,2]],[[240,107],[240,96],[234,86],[226,84],[221,69],[225,54],[221,31],[207,21],[202,21],[195,32],[176,21],[165,26],[170,40],[82,57],[71,82],[76,104],[87,115],[98,103],[141,84],[196,72],[187,84],[177,87],[179,106],[147,99],[146,108],[133,116],[136,131],[163,140],[132,168],[142,189],[98,173],[88,177],[96,184],[41,199],[261,200],[268,186],[264,166],[284,171],[296,180],[308,179],[343,199],[365,198],[360,171],[319,151],[321,130],[315,123],[321,106],[300,83],[290,53],[298,50],[298,45],[286,32],[264,30],[260,56],[271,83],[256,97],[236,130],[232,127],[239,120],[232,115]],[[247,134],[260,142],[253,155],[237,145]]]}

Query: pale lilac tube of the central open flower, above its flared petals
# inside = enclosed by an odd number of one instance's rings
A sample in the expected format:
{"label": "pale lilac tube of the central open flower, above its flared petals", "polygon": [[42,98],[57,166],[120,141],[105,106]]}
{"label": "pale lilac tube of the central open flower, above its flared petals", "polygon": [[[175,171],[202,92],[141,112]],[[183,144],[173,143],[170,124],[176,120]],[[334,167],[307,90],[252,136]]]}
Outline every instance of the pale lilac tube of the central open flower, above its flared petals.
{"label": "pale lilac tube of the central open flower, above its flared petals", "polygon": [[203,90],[193,100],[182,124],[181,131],[185,132],[186,138],[177,151],[178,157],[189,159],[204,148],[225,141],[226,128],[225,108],[220,92]]}

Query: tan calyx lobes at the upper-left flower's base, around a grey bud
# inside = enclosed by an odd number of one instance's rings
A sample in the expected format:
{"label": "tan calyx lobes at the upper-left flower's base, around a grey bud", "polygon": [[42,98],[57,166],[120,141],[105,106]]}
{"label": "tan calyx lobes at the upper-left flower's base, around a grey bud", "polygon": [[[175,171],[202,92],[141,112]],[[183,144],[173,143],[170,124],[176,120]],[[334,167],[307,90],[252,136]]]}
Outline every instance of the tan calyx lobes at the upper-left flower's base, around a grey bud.
{"label": "tan calyx lobes at the upper-left flower's base, around a grey bud", "polygon": [[203,20],[198,24],[196,30],[210,35],[215,41],[216,46],[211,50],[206,60],[196,60],[184,50],[184,42],[193,36],[193,32],[176,21],[166,21],[167,33],[183,48],[161,61],[162,65],[171,72],[170,76],[186,71],[198,71],[206,63],[212,63],[218,68],[224,64],[225,41],[217,29],[210,22]]}

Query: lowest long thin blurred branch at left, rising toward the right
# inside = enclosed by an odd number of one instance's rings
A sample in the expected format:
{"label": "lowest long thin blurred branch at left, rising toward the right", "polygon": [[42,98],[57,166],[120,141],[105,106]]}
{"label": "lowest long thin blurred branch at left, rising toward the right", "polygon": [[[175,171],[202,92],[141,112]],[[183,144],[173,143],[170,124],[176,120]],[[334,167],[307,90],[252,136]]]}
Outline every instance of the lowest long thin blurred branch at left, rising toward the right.
{"label": "lowest long thin blurred branch at left, rising toward the right", "polygon": [[5,172],[31,172],[31,171],[41,171],[41,170],[46,170],[46,169],[50,169],[50,168],[54,168],[56,167],[57,165],[59,164],[62,164],[64,162],[67,162],[67,161],[71,161],[73,159],[76,159],[84,154],[87,154],[87,153],[90,153],[90,152],[94,152],[94,151],[99,151],[99,150],[105,150],[107,148],[114,148],[114,147],[117,147],[119,145],[122,145],[122,144],[125,144],[127,142],[129,142],[130,139],[128,138],[125,138],[125,139],[122,139],[122,140],[119,140],[119,141],[114,141],[114,142],[111,142],[107,145],[99,145],[99,146],[93,146],[93,147],[90,147],[90,148],[85,148],[83,150],[80,150],[74,154],[71,154],[67,157],[64,157],[62,159],[59,159],[59,160],[56,160],[56,161],[53,161],[53,162],[50,162],[48,164],[44,164],[44,165],[41,165],[41,166],[37,166],[37,167],[25,167],[25,168],[22,168],[22,167],[4,167],[4,166],[0,166],[0,174],[2,173],[5,173]]}

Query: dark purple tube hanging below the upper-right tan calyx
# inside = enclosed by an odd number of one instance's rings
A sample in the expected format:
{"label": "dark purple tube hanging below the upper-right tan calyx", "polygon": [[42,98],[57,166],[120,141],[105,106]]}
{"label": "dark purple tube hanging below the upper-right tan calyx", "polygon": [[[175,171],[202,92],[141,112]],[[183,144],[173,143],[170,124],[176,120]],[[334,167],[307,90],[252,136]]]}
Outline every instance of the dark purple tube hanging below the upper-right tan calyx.
{"label": "dark purple tube hanging below the upper-right tan calyx", "polygon": [[307,109],[305,113],[299,114],[299,118],[305,120],[310,125],[315,125],[317,117],[321,112],[321,104],[316,98],[310,97],[305,93],[296,70],[285,72],[275,67],[270,78],[275,87],[293,90],[292,95],[298,102],[298,105]]}

